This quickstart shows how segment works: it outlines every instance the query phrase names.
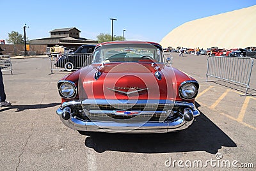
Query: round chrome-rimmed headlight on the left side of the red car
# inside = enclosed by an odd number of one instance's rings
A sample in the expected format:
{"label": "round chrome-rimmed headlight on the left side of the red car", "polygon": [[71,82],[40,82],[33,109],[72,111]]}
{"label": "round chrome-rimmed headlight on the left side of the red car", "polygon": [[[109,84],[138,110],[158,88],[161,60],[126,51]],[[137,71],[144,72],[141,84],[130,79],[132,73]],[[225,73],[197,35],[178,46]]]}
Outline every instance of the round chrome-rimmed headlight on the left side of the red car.
{"label": "round chrome-rimmed headlight on the left side of the red car", "polygon": [[76,87],[70,82],[63,82],[60,85],[60,94],[63,98],[74,98],[76,96]]}

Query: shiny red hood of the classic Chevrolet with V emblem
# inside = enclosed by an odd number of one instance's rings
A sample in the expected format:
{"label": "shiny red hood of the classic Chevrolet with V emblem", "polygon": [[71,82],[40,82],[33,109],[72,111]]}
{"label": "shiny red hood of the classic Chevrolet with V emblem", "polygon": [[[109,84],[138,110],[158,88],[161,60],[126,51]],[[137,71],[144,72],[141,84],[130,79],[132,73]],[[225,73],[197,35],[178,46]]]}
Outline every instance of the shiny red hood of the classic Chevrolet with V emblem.
{"label": "shiny red hood of the classic Chevrolet with V emblem", "polygon": [[[99,70],[100,77],[95,79]],[[155,77],[161,73],[161,80]],[[76,82],[80,100],[181,100],[179,85],[192,77],[164,64],[110,63],[92,64],[78,70],[65,80]]]}

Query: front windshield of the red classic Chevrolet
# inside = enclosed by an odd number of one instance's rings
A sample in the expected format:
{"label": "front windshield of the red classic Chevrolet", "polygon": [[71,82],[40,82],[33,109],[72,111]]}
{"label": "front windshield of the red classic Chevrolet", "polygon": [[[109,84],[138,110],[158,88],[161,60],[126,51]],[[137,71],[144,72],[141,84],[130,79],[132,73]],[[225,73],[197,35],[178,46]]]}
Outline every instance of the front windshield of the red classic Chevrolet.
{"label": "front windshield of the red classic Chevrolet", "polygon": [[93,63],[113,62],[164,63],[163,51],[151,44],[109,44],[95,50]]}

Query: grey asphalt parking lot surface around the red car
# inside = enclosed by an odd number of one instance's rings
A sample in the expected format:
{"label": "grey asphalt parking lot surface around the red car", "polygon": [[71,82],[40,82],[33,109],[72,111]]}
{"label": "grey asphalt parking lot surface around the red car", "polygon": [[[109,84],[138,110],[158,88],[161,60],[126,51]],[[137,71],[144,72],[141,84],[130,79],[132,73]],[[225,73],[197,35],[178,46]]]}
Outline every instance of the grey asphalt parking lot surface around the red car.
{"label": "grey asphalt parking lot surface around the red car", "polygon": [[12,59],[13,75],[3,72],[12,106],[0,108],[0,170],[253,170],[256,67],[249,91],[254,96],[243,96],[241,86],[206,82],[207,56],[172,55],[175,68],[200,82],[200,116],[187,130],[138,135],[70,130],[55,114],[56,82],[68,72],[51,74],[47,57]]}

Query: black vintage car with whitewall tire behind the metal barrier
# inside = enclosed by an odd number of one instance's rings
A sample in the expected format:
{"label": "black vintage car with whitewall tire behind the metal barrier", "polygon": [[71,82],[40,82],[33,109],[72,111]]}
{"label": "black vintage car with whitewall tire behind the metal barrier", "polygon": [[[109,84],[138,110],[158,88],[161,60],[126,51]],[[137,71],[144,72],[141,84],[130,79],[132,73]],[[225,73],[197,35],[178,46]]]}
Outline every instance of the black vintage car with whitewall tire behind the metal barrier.
{"label": "black vintage car with whitewall tire behind the metal barrier", "polygon": [[82,45],[72,54],[65,54],[55,63],[56,67],[65,68],[67,71],[82,68],[86,60],[92,58],[95,45]]}

